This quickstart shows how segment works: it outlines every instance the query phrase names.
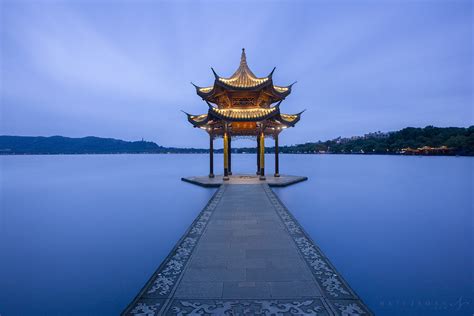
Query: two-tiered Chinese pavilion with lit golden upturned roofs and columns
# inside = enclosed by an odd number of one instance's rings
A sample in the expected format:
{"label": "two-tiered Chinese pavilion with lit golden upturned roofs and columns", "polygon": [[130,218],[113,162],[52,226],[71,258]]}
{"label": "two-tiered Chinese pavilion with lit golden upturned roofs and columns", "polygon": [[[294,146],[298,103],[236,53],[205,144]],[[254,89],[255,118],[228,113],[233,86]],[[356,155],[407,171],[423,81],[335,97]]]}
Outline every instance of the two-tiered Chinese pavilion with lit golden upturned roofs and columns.
{"label": "two-tiered Chinese pavilion with lit golden upturned roofs and columns", "polygon": [[[212,69],[212,68],[211,68]],[[242,49],[239,68],[229,78],[220,77],[214,69],[214,85],[196,86],[197,94],[206,101],[206,114],[187,114],[194,127],[205,130],[210,136],[210,171],[214,177],[214,138],[224,141],[224,180],[229,179],[231,169],[231,139],[233,137],[255,137],[257,140],[257,174],[265,179],[265,137],[275,140],[275,177],[279,176],[278,135],[300,120],[301,113],[283,114],[281,102],[291,93],[289,86],[273,84],[275,68],[266,77],[257,77],[247,65],[245,49]],[[274,105],[276,103],[276,105]]]}

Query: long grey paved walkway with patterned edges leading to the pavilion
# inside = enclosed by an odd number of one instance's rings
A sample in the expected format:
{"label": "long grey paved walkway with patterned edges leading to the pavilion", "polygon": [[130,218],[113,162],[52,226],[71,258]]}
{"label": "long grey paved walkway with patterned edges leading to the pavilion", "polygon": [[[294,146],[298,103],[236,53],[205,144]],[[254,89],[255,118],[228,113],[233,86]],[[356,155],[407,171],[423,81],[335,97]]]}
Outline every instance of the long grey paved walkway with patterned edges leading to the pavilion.
{"label": "long grey paved walkway with patterned edges leading to the pavilion", "polygon": [[124,315],[371,315],[267,184],[222,185]]}

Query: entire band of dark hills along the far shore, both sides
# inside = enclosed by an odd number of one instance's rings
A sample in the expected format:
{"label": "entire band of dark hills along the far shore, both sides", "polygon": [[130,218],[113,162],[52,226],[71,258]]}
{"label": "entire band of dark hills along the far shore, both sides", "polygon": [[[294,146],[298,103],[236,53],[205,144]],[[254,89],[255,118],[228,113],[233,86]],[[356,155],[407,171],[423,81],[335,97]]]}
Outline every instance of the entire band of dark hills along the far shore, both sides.
{"label": "entire band of dark hills along the far shore, both sides", "polygon": [[[272,142],[268,142],[272,144]],[[266,147],[267,153],[273,147]],[[205,148],[162,147],[154,142],[123,141],[113,138],[69,138],[0,136],[0,154],[162,154],[206,153]],[[216,150],[221,153],[222,149]],[[233,148],[234,153],[255,153],[255,147]],[[406,154],[406,155],[463,155],[474,156],[474,126],[463,127],[407,127],[396,132],[376,132],[280,147],[290,154]]]}

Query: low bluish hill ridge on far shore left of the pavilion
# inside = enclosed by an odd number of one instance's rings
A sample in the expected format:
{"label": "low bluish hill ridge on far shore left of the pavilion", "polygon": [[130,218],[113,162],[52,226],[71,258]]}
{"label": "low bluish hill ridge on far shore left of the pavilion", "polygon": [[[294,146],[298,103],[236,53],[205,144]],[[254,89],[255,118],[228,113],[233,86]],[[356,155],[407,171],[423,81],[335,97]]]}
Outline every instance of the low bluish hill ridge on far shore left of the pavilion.
{"label": "low bluish hill ridge on far shore left of the pavilion", "polygon": [[204,149],[167,148],[154,142],[113,138],[63,136],[0,136],[0,154],[120,154],[206,152]]}

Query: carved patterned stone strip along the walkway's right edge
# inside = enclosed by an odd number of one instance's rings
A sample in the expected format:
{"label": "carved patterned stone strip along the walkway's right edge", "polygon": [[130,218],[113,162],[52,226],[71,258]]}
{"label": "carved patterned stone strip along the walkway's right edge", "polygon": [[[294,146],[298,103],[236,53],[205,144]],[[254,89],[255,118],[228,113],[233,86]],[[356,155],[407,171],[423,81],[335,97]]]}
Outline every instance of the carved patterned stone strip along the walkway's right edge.
{"label": "carved patterned stone strip along the walkway's right edge", "polygon": [[372,315],[276,194],[268,185],[262,186],[333,311],[338,315]]}

